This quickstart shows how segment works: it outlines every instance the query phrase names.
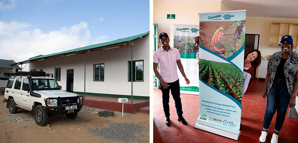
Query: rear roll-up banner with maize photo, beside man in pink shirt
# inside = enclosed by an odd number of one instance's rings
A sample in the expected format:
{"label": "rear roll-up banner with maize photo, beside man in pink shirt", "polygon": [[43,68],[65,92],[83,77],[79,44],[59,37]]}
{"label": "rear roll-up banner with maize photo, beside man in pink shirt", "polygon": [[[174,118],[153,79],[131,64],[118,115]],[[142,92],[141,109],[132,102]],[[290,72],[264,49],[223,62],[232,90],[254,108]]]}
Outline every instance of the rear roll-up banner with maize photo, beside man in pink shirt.
{"label": "rear roll-up banner with maize photo, beside man in pink shirt", "polygon": [[199,67],[196,59],[199,48],[193,43],[193,39],[197,36],[199,36],[198,25],[174,24],[173,47],[179,50],[184,72],[190,80],[190,84],[187,85],[179,68],[177,68],[180,93],[199,94]]}

